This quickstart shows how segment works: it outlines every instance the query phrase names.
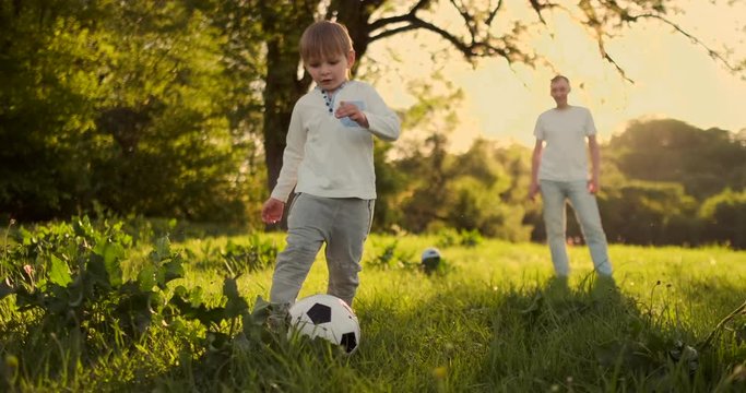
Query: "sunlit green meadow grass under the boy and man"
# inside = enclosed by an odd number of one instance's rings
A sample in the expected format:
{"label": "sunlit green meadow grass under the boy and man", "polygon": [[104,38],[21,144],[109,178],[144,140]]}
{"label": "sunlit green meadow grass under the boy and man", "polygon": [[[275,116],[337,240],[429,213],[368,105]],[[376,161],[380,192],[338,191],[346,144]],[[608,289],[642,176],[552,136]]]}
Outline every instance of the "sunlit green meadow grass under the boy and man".
{"label": "sunlit green meadow grass under the boy and man", "polygon": [[[268,235],[282,249],[283,237]],[[248,236],[185,240],[186,276],[221,302],[224,263],[216,251]],[[372,236],[354,309],[362,343],[352,356],[322,343],[264,332],[221,349],[197,345],[204,332],[156,326],[135,345],[62,368],[63,341],[15,366],[24,319],[0,302],[0,381],[13,391],[158,392],[637,392],[746,390],[746,314],[718,323],[746,301],[746,252],[612,246],[615,283],[596,279],[588,249],[569,249],[572,275],[555,282],[548,249],[485,240],[442,248],[449,269],[374,267],[396,240]],[[416,262],[435,237],[398,238],[396,253]],[[146,258],[129,250],[133,275]],[[325,290],[319,255],[300,297]],[[238,288],[251,306],[267,297],[272,271],[245,274]],[[223,326],[227,332],[227,326]],[[702,345],[715,331],[709,345]],[[677,349],[694,348],[697,358]],[[680,350],[679,350],[680,352]],[[54,361],[52,361],[54,360]],[[59,370],[67,371],[61,372]]]}

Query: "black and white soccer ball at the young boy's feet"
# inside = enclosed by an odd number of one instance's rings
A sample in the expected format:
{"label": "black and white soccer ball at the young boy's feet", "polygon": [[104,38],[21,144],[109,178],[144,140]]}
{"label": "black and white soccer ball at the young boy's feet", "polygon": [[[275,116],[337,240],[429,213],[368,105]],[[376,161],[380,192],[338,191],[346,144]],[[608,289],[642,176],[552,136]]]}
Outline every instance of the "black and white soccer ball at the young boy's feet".
{"label": "black and white soccer ball at the young boy's feet", "polygon": [[310,338],[321,337],[354,353],[360,344],[360,325],[347,303],[332,295],[313,295],[293,305],[291,334],[297,332]]}

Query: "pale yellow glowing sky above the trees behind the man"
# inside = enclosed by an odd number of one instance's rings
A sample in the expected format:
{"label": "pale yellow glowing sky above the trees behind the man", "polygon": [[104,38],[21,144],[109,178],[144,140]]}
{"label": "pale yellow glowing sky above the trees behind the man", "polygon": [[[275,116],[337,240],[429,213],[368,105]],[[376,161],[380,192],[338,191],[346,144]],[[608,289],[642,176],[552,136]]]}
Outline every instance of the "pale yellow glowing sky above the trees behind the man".
{"label": "pale yellow glowing sky above the trees behind the man", "polygon": [[[520,9],[524,3],[508,4]],[[710,48],[726,45],[739,59],[746,58],[746,1],[731,5],[706,0],[676,3],[685,12],[672,15],[672,21]],[[459,21],[458,15],[447,13],[440,17],[446,24]],[[635,119],[673,118],[701,129],[746,129],[745,74],[733,74],[671,26],[642,22],[606,41],[606,50],[631,83],[600,57],[595,40],[567,13],[550,14],[547,23],[556,32],[554,37],[543,33],[533,37],[531,45],[570,79],[570,104],[591,109],[601,141],[623,132]],[[462,90],[464,98],[454,107],[459,123],[450,134],[452,150],[467,148],[477,136],[533,146],[536,117],[554,105],[548,82],[556,71],[542,66],[510,67],[499,58],[483,59],[472,68],[459,55],[434,62],[431,52],[446,50],[448,45],[426,33],[380,43],[372,45],[368,55],[378,63],[394,64],[384,67],[376,81],[389,105],[411,105],[414,98],[405,82],[427,78],[436,68]]]}

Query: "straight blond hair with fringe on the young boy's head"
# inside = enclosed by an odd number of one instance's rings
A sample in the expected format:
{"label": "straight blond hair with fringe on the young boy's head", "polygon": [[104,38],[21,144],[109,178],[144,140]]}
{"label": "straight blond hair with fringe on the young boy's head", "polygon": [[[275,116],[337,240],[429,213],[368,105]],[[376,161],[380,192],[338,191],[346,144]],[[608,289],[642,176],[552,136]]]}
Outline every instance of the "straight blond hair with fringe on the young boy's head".
{"label": "straight blond hair with fringe on the young boy's head", "polygon": [[343,24],[320,21],[308,26],[300,36],[300,58],[304,62],[347,56],[353,40]]}

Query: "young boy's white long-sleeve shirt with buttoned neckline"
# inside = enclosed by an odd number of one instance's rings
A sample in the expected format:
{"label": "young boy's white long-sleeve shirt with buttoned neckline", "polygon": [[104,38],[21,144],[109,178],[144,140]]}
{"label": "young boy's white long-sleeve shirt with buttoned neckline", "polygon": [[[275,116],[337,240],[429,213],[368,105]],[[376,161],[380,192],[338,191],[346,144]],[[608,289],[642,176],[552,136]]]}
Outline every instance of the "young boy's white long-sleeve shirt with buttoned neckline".
{"label": "young boy's white long-sleeve shirt with buttoned neckline", "polygon": [[[356,104],[369,128],[335,118],[341,102]],[[395,141],[399,117],[371,85],[359,81],[348,81],[335,92],[331,109],[319,88],[295,104],[272,198],[286,202],[295,187],[296,192],[317,196],[376,199],[374,135]]]}

